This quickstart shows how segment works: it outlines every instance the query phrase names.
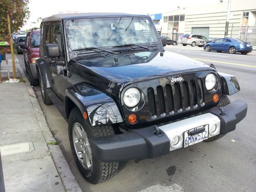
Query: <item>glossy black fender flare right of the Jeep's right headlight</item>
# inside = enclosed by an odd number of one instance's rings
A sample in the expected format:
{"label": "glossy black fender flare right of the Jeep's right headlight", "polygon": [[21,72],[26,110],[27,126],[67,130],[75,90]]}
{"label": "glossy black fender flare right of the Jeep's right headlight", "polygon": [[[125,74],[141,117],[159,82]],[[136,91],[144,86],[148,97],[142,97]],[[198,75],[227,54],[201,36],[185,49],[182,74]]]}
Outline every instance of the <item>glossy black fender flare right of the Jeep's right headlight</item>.
{"label": "glossy black fender flare right of the Jeep's right headlight", "polygon": [[218,72],[221,78],[221,93],[224,95],[233,95],[240,91],[238,80],[235,76]]}

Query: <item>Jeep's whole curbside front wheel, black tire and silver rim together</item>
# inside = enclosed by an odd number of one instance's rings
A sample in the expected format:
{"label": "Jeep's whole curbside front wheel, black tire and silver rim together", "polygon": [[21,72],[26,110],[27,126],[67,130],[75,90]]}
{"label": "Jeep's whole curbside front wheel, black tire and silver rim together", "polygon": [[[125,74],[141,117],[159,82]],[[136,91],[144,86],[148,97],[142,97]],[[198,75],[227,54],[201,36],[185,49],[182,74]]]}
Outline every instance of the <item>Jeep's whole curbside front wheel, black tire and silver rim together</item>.
{"label": "Jeep's whole curbside front wheel, black tire and silver rim together", "polygon": [[88,125],[78,108],[69,117],[69,139],[71,150],[81,174],[90,183],[97,184],[109,180],[117,173],[118,161],[98,160],[90,147],[90,138],[115,135],[111,125]]}

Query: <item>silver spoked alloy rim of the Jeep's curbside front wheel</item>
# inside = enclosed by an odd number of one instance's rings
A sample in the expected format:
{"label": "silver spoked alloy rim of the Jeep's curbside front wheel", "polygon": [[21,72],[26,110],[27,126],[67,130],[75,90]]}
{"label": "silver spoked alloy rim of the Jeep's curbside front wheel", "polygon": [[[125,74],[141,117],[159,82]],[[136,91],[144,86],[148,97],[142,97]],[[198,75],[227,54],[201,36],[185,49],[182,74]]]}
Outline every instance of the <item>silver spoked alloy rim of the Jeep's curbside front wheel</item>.
{"label": "silver spoked alloy rim of the Jeep's curbside front wheel", "polygon": [[87,134],[80,123],[75,122],[73,124],[72,135],[76,155],[81,165],[90,170],[92,167],[92,150]]}

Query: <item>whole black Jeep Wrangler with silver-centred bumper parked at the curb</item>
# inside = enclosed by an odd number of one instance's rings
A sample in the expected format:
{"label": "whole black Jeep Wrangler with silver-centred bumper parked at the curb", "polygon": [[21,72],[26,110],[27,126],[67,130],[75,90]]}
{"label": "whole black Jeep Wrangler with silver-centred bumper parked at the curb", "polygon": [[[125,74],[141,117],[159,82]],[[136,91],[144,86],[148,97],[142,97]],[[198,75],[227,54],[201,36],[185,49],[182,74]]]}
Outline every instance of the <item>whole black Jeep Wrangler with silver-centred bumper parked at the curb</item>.
{"label": "whole black Jeep Wrangler with silver-centred bumper parked at the curb", "polygon": [[237,78],[164,51],[148,15],[57,14],[41,24],[42,98],[69,124],[77,166],[91,183],[118,161],[155,158],[233,131],[247,104]]}

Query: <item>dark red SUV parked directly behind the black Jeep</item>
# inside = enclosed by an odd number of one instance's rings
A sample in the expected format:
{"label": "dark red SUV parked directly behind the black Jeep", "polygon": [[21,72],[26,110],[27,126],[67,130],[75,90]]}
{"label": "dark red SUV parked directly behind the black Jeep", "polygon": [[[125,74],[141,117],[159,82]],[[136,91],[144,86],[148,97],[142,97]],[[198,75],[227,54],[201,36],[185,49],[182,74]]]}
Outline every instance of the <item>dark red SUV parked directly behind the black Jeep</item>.
{"label": "dark red SUV parked directly behind the black Jeep", "polygon": [[32,29],[27,33],[26,43],[21,48],[24,49],[24,62],[26,72],[29,76],[31,86],[38,86],[38,75],[35,61],[39,58],[40,30]]}

